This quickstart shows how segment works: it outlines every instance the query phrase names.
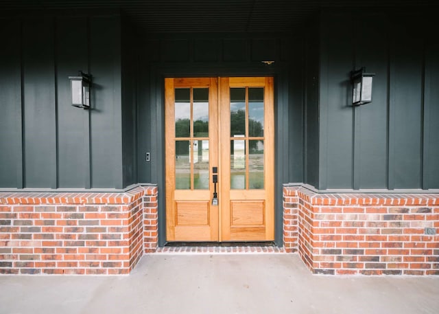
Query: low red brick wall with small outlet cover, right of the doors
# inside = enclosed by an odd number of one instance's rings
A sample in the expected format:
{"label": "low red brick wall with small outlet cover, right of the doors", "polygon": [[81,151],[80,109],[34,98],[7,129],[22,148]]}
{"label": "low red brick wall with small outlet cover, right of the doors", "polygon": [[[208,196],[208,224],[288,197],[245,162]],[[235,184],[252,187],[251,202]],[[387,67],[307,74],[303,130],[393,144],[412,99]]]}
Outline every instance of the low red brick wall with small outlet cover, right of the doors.
{"label": "low red brick wall with small outlet cover, right of the doors", "polygon": [[439,275],[439,234],[425,234],[425,227],[438,232],[439,194],[286,187],[284,216],[285,249],[298,251],[313,273]]}

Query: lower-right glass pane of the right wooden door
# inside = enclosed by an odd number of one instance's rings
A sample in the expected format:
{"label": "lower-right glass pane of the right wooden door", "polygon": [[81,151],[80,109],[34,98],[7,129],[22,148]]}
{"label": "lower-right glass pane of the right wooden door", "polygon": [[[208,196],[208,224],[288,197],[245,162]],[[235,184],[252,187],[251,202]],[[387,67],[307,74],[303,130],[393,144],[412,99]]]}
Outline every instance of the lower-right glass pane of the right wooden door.
{"label": "lower-right glass pane of the right wooden door", "polygon": [[263,189],[263,140],[250,140],[248,155],[248,188]]}

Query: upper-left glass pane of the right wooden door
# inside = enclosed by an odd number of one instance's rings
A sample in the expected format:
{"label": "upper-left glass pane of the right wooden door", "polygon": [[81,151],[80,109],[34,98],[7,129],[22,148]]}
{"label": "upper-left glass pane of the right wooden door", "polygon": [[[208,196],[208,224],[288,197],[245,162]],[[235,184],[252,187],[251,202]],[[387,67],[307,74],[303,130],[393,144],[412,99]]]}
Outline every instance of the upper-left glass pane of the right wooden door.
{"label": "upper-left glass pane of the right wooden door", "polygon": [[230,136],[246,134],[246,89],[230,89]]}

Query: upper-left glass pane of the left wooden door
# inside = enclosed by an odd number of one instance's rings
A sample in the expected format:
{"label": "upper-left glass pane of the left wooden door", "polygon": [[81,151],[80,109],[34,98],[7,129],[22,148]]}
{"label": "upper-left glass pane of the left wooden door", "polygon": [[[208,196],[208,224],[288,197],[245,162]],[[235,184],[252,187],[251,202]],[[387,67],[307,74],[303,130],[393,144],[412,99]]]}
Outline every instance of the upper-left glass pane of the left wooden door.
{"label": "upper-left glass pane of the left wooden door", "polygon": [[176,137],[189,137],[191,122],[191,89],[175,90]]}

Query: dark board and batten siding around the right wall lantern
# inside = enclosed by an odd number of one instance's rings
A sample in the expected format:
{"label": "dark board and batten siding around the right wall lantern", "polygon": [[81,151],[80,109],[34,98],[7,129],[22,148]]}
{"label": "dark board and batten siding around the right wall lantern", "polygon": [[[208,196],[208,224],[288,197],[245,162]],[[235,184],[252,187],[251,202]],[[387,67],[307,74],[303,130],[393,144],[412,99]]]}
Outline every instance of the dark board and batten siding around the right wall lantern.
{"label": "dark board and batten siding around the right wall lantern", "polygon": [[[434,27],[416,14],[327,10],[319,29],[319,170],[316,180],[306,168],[313,180],[305,182],[320,190],[438,189]],[[353,108],[348,75],[359,67],[376,74],[373,98]],[[307,135],[313,143],[314,131]]]}

